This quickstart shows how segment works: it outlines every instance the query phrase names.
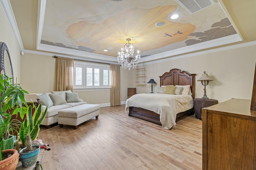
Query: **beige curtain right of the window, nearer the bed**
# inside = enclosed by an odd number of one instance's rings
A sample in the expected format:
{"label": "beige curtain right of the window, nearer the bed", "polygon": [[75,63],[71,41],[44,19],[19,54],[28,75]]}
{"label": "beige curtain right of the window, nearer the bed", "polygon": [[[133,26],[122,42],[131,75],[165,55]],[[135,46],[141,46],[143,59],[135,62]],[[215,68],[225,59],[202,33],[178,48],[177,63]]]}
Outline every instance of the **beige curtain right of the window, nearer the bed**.
{"label": "beige curtain right of the window, nearer the bed", "polygon": [[111,106],[121,105],[120,95],[120,65],[110,64],[112,72]]}

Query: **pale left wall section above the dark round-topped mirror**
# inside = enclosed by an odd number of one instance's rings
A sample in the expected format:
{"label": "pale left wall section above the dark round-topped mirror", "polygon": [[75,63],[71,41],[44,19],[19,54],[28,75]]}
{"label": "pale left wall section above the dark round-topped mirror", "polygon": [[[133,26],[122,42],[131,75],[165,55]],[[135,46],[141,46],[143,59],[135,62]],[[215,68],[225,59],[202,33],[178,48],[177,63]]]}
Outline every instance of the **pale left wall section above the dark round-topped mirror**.
{"label": "pale left wall section above the dark round-topped mirror", "polygon": [[14,33],[12,32],[12,29],[5,17],[5,14],[0,8],[0,41],[6,43],[8,50],[10,52],[11,61],[12,61],[12,68],[13,68],[13,76],[14,76],[14,82],[16,82],[16,78],[18,80],[17,83],[20,83],[20,48],[18,46],[18,43],[14,37]]}

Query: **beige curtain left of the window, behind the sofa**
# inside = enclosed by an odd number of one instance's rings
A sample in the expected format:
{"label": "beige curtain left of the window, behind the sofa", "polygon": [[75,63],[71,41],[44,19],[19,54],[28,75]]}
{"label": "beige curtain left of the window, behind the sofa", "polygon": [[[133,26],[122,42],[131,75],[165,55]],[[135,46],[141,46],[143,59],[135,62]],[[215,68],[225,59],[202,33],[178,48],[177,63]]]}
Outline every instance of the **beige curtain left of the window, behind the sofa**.
{"label": "beige curtain left of the window, behind the sofa", "polygon": [[57,58],[57,91],[73,91],[74,59]]}

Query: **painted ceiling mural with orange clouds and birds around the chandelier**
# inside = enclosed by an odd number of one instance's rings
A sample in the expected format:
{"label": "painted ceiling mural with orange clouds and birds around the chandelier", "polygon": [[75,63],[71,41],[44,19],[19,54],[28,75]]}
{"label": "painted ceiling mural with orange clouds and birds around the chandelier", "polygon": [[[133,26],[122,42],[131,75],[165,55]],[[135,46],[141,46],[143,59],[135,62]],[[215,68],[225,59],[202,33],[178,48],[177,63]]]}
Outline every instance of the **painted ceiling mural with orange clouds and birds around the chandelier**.
{"label": "painted ceiling mural with orange clouds and birds around the chandelier", "polygon": [[130,38],[146,57],[233,34],[219,3],[190,14],[176,0],[48,0],[41,43],[116,57]]}

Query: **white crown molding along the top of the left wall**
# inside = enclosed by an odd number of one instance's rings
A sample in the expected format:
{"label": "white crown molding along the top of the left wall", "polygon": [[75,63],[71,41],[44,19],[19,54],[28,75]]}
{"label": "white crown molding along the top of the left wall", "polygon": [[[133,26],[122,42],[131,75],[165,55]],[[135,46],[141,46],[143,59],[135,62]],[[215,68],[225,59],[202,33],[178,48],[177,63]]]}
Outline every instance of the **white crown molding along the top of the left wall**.
{"label": "white crown molding along the top of the left wall", "polygon": [[12,6],[10,4],[9,0],[0,0],[0,6],[4,11],[4,15],[12,29],[12,32],[14,34],[14,37],[16,39],[16,42],[18,43],[18,46],[20,48],[20,51],[24,51],[23,43],[20,37],[20,32],[12,11]]}

